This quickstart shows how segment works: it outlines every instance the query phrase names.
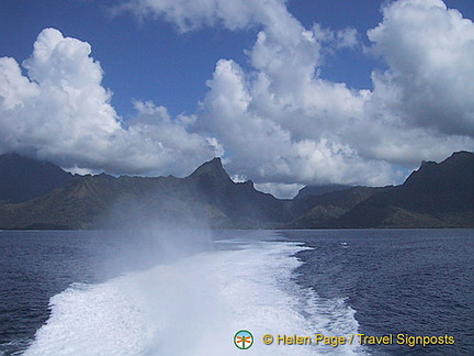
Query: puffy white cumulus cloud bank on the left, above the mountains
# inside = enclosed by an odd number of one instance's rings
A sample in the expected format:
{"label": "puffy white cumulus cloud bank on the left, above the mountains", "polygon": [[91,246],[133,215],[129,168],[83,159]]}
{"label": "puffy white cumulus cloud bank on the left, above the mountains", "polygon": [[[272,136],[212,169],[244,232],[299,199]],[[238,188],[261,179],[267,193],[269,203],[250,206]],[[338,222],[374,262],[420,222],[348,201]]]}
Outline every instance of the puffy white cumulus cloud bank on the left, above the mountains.
{"label": "puffy white cumulus cloud bank on the left, above the mountains", "polygon": [[185,175],[222,147],[187,131],[151,102],[135,102],[124,125],[101,86],[103,71],[88,43],[44,30],[23,63],[0,58],[0,151],[49,159],[63,167],[112,174]]}

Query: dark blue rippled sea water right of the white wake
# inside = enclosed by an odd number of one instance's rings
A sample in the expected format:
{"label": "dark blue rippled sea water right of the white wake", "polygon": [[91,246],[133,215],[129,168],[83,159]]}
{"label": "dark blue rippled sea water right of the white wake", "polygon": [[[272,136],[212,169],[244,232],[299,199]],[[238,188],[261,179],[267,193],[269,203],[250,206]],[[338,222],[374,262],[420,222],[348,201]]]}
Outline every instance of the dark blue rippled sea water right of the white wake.
{"label": "dark blue rippled sea water right of the white wake", "polygon": [[376,355],[474,355],[474,232],[369,230],[285,233],[301,252],[298,281],[342,297],[366,335],[452,335],[454,345],[369,347]]}

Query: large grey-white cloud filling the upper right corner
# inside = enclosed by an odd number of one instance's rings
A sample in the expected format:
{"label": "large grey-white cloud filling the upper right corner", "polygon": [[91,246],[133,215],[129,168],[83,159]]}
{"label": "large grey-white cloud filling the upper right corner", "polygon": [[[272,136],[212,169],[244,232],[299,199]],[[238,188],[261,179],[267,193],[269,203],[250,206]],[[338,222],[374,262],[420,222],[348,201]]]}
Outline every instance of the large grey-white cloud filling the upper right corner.
{"label": "large grey-white cloud filling the upper right corner", "polygon": [[368,32],[390,70],[375,93],[407,124],[474,137],[474,23],[441,0],[403,0]]}

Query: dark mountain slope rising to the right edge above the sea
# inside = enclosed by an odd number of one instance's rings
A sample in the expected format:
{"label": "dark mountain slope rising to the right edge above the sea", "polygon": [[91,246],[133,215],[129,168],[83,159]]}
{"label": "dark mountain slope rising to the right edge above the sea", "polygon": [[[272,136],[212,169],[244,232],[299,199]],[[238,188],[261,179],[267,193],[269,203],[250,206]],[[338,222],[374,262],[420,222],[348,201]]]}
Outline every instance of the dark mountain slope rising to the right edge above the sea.
{"label": "dark mountain slope rising to the right edge above the sea", "polygon": [[425,162],[402,186],[353,207],[334,227],[473,227],[474,154]]}

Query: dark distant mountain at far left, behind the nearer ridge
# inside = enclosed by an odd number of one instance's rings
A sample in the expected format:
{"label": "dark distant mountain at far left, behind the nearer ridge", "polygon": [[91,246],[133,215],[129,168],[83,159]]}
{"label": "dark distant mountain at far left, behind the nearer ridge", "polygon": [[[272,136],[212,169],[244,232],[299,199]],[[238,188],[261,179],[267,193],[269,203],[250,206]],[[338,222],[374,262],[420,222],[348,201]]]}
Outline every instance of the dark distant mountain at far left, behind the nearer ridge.
{"label": "dark distant mountain at far left, behind the nearer ridge", "polygon": [[0,201],[23,202],[66,186],[72,175],[46,162],[0,155]]}

